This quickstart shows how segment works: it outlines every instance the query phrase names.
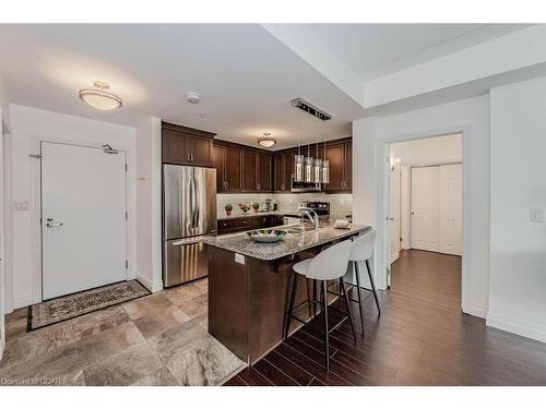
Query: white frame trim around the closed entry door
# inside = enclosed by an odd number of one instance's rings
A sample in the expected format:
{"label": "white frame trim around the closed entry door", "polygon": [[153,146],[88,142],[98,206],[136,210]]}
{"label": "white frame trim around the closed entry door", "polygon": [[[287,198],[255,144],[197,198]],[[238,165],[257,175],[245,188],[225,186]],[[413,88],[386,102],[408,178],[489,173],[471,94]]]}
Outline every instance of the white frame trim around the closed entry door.
{"label": "white frame trim around the closed entry door", "polygon": [[[58,144],[58,145],[70,145],[70,146],[78,146],[78,147],[88,147],[88,148],[97,148],[97,149],[104,149],[102,146],[104,142],[85,142],[85,141],[67,141],[63,139],[51,139],[51,137],[39,137],[36,136],[32,141],[32,148],[33,153],[39,152],[41,153],[41,143],[51,143],[51,144]],[[130,273],[133,269],[131,268],[132,263],[130,260],[130,241],[129,241],[129,230],[130,227],[132,227],[132,217],[129,215],[129,158],[130,158],[130,147],[128,146],[118,146],[117,144],[110,143],[112,147],[119,152],[122,152],[126,154],[126,165],[127,165],[127,170],[126,170],[126,212],[128,214],[128,217],[126,219],[126,254],[124,257],[128,261],[128,267],[126,268],[126,280],[133,279],[134,273]],[[33,270],[33,293],[32,293],[32,299],[33,303],[38,303],[43,301],[43,224],[40,224],[40,217],[41,217],[41,159],[33,159],[33,171],[32,171],[32,185],[33,185],[33,195],[32,195],[32,220],[35,220],[32,225],[32,239],[33,239],[33,246],[35,251],[35,263],[34,263],[34,270]]]}

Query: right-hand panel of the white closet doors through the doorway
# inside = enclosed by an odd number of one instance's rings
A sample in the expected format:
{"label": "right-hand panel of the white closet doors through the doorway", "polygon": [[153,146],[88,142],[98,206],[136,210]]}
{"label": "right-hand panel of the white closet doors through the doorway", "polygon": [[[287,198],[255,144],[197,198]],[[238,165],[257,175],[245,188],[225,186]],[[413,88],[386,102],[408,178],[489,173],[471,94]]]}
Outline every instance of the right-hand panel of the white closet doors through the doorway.
{"label": "right-hand panel of the white closet doors through the doorway", "polygon": [[440,166],[440,252],[461,255],[462,243],[462,166]]}

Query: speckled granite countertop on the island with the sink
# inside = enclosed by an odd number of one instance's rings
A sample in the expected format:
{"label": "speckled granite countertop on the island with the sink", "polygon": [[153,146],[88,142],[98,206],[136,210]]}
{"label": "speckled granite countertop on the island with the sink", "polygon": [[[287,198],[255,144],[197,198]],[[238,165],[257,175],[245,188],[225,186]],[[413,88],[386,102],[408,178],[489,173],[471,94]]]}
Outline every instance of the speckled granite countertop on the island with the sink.
{"label": "speckled granite countertop on the island with the sink", "polygon": [[[278,227],[278,229],[285,228],[288,226]],[[249,257],[273,261],[369,229],[369,226],[360,225],[351,225],[348,229],[336,229],[328,224],[319,228],[318,237],[314,237],[314,230],[308,230],[304,233],[288,233],[284,240],[276,243],[257,243],[247,232],[211,237],[204,242]]]}

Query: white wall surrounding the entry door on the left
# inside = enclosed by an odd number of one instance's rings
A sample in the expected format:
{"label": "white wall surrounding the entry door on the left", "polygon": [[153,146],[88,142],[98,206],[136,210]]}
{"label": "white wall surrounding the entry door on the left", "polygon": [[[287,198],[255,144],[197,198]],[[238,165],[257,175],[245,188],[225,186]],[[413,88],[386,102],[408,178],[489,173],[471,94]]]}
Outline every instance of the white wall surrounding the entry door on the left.
{"label": "white wall surrounding the entry door on the left", "polygon": [[[108,122],[11,106],[12,199],[28,201],[29,210],[12,210],[13,305],[40,301],[39,161],[28,157],[39,151],[39,141],[85,145],[110,144],[128,155],[128,261],[129,276],[135,274],[135,129]],[[90,253],[90,256],[92,254]]]}

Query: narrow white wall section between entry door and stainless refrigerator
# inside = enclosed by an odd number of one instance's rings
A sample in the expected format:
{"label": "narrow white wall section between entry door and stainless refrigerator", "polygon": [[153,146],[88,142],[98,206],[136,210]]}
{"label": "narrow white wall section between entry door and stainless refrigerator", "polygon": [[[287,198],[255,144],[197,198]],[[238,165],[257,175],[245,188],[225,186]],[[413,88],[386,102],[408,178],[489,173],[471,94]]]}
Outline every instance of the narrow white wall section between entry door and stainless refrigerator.
{"label": "narrow white wall section between entry door and stainless refrigerator", "polygon": [[162,284],[161,119],[136,128],[136,278],[150,291]]}

